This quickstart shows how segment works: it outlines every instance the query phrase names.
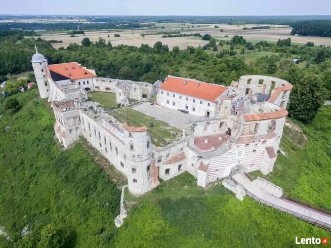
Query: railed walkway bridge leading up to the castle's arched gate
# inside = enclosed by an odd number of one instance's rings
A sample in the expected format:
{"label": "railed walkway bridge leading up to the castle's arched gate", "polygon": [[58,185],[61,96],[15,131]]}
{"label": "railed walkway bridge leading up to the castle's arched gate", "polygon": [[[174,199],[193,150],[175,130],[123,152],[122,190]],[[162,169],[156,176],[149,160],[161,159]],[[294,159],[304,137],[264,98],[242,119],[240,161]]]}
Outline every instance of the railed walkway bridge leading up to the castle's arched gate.
{"label": "railed walkway bridge leading up to the castle's arched gate", "polygon": [[283,197],[277,198],[266,193],[259,188],[245,175],[235,172],[230,176],[230,179],[235,184],[241,184],[245,188],[246,195],[250,196],[256,201],[259,201],[267,206],[278,209],[286,214],[293,215],[300,220],[306,221],[313,225],[322,227],[331,231],[331,216],[308,206],[301,205],[297,202],[285,199]]}

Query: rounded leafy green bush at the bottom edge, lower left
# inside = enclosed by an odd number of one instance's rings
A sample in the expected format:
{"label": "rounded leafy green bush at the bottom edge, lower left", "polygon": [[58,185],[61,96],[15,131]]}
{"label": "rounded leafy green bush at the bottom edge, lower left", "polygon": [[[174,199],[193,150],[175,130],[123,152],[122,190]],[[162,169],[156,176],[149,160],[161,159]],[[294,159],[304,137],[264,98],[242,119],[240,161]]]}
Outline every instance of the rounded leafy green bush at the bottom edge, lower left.
{"label": "rounded leafy green bush at the bottom edge, lower left", "polygon": [[59,235],[58,230],[52,225],[46,225],[40,232],[40,241],[37,248],[59,248],[63,244],[63,238]]}

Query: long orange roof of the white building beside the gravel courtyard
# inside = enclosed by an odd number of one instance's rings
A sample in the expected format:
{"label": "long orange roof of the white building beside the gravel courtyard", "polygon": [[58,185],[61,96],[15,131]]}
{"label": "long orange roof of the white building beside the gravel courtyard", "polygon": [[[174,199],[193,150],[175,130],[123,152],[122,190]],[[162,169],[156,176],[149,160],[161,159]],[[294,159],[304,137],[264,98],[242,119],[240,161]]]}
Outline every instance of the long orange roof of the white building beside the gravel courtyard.
{"label": "long orange roof of the white building beside the gravel courtyard", "polygon": [[160,87],[161,90],[176,92],[208,101],[215,101],[228,88],[225,86],[207,84],[193,79],[168,76]]}

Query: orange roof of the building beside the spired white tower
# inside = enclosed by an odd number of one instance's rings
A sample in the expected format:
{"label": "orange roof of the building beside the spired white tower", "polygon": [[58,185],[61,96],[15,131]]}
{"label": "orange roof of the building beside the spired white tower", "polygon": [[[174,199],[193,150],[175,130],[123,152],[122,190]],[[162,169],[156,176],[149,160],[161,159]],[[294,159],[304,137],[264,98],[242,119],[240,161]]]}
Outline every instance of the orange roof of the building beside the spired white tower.
{"label": "orange roof of the building beside the spired white tower", "polygon": [[51,71],[54,71],[65,77],[69,77],[70,79],[79,79],[79,78],[96,76],[95,74],[83,68],[80,64],[76,62],[49,65],[48,68]]}

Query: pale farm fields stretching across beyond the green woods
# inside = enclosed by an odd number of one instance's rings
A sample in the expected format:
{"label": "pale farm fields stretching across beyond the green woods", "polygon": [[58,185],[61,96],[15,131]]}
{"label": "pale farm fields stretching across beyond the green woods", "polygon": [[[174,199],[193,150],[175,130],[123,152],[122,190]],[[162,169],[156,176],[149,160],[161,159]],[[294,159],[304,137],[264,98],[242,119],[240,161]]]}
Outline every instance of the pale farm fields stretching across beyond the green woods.
{"label": "pale farm fields stretching across beyond the green woods", "polygon": [[[194,26],[194,27],[192,27]],[[225,35],[230,37],[234,35],[242,35],[246,40],[268,40],[276,42],[279,38],[285,39],[291,37],[293,43],[305,44],[307,42],[314,42],[315,45],[331,46],[331,37],[316,37],[316,36],[294,36],[290,35],[292,28],[281,25],[274,25],[277,28],[270,29],[251,29],[242,30],[243,27],[252,27],[256,25],[226,25],[219,24],[218,28],[214,27],[214,24],[185,24],[180,23],[159,23],[155,28],[148,29],[133,29],[133,30],[100,30],[100,31],[86,31],[85,36],[83,34],[76,34],[76,37],[70,37],[69,34],[43,34],[41,37],[46,40],[56,39],[62,40],[63,43],[52,44],[55,48],[67,47],[70,43],[77,43],[80,45],[81,40],[84,37],[90,38],[92,42],[102,37],[106,42],[110,41],[113,46],[120,44],[140,47],[141,44],[147,44],[153,46],[155,42],[160,41],[163,44],[168,45],[170,49],[174,46],[179,46],[180,49],[185,49],[187,46],[203,46],[208,43],[199,37],[172,37],[162,38],[162,34],[145,35],[142,37],[142,33],[156,33],[156,32],[169,32],[180,31],[181,33],[205,33],[211,34],[213,37],[222,39]],[[159,28],[164,27],[164,29]],[[189,28],[188,28],[189,27]],[[182,30],[183,29],[183,30]],[[220,30],[223,29],[223,32]],[[120,34],[120,37],[114,37],[114,34]],[[109,37],[108,37],[109,35]]]}

